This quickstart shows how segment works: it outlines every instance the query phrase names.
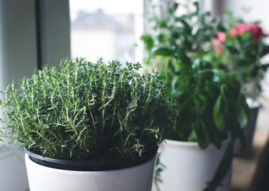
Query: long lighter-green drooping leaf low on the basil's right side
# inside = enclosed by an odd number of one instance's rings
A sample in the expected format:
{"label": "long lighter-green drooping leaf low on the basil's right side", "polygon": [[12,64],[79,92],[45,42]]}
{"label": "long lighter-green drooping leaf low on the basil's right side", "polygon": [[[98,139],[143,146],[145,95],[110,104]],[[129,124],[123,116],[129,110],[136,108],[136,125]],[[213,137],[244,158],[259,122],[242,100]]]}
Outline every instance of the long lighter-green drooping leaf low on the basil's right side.
{"label": "long lighter-green drooping leaf low on the basil's right side", "polygon": [[220,132],[224,132],[225,122],[224,122],[224,115],[222,113],[222,96],[219,96],[217,98],[217,101],[214,103],[213,117],[217,129],[219,129]]}

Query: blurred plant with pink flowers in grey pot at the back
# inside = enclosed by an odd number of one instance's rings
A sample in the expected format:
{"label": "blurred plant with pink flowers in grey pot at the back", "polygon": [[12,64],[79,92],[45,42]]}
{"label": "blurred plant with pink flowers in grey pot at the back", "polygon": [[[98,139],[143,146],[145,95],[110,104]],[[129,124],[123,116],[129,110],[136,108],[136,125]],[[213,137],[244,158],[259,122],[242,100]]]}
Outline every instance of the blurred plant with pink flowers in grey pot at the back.
{"label": "blurred plant with pink flowers in grey pot at the back", "polygon": [[247,154],[256,127],[261,81],[269,66],[262,63],[263,57],[269,53],[269,46],[264,42],[267,35],[260,23],[246,23],[241,18],[234,18],[231,12],[224,15],[224,22],[217,29],[217,37],[212,40],[212,60],[240,81],[251,108],[250,122],[244,130],[246,148],[240,152],[239,144],[235,144],[237,154]]}

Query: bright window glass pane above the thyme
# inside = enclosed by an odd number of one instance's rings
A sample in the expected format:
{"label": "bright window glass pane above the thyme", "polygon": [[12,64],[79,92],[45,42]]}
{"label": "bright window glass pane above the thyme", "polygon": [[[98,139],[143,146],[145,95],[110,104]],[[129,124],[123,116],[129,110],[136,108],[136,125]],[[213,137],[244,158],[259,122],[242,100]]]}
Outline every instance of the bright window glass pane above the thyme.
{"label": "bright window glass pane above the thyme", "polygon": [[142,61],[143,0],[70,0],[71,57]]}

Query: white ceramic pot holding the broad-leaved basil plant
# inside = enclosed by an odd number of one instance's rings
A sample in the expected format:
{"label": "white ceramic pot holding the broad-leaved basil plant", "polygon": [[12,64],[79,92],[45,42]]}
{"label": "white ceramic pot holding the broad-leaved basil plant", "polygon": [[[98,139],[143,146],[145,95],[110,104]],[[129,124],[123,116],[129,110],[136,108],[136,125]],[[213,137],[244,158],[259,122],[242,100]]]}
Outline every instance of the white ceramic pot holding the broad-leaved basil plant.
{"label": "white ceramic pot holding the broad-leaved basil plant", "polygon": [[[212,180],[229,141],[224,141],[221,149],[212,144],[200,149],[198,143],[172,141],[166,139],[161,144],[161,163],[166,166],[161,173],[161,191],[202,191]],[[229,191],[231,170],[217,191]]]}

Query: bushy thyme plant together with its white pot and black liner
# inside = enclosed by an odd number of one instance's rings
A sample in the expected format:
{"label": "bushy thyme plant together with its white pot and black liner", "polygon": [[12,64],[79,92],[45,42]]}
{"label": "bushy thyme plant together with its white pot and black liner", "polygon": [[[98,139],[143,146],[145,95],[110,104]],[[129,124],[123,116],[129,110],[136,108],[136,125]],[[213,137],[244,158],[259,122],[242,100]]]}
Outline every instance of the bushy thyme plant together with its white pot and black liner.
{"label": "bushy thyme plant together with its white pot and black liner", "polygon": [[6,88],[8,131],[31,191],[150,191],[171,103],[140,64],[65,59]]}

